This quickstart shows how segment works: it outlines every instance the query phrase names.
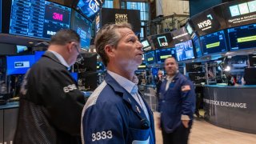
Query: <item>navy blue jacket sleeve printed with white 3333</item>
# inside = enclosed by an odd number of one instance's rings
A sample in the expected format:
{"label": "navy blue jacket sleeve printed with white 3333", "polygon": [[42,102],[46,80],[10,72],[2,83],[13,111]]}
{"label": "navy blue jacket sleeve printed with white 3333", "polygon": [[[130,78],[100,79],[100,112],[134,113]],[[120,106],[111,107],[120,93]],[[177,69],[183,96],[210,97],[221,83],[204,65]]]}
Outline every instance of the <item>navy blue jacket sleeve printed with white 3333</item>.
{"label": "navy blue jacket sleeve printed with white 3333", "polygon": [[86,144],[122,144],[127,135],[124,127],[118,107],[110,102],[99,102],[88,107],[82,115],[82,141]]}

